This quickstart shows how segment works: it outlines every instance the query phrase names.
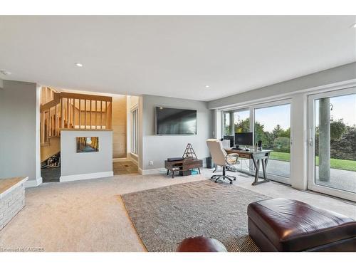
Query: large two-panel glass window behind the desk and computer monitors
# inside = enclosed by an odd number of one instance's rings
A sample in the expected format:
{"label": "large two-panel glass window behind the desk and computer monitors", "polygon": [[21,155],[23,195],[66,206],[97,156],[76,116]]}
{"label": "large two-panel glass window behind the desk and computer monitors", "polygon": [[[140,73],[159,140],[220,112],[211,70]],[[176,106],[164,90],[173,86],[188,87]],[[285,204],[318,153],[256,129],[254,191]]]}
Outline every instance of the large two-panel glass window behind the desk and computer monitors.
{"label": "large two-panel glass window behind the desk and computer monitors", "polygon": [[[273,150],[268,161],[268,177],[290,183],[289,100],[224,111],[223,135],[234,135],[235,132],[253,132],[255,143],[261,140],[264,150]],[[251,160],[241,159],[240,162],[241,171],[254,173]]]}

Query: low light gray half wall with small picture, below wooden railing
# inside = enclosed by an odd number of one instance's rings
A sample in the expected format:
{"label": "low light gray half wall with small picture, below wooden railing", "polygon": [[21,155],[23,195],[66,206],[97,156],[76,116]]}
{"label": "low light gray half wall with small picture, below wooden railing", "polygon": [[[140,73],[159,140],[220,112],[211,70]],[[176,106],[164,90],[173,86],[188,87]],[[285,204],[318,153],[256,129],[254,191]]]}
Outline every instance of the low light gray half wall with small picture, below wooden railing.
{"label": "low light gray half wall with small picture, below wooden railing", "polygon": [[[76,137],[99,137],[99,152],[77,153]],[[112,131],[61,130],[61,182],[112,175]]]}

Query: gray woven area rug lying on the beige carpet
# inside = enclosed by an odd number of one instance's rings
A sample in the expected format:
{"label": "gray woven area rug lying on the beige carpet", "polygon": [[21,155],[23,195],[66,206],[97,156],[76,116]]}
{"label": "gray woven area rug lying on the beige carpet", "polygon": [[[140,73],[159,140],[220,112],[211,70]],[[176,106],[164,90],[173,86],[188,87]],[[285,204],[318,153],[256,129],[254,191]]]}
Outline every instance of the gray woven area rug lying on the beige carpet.
{"label": "gray woven area rug lying on the beige carpet", "polygon": [[122,195],[147,251],[175,251],[189,236],[208,236],[228,251],[258,251],[248,236],[247,206],[268,197],[209,180]]}

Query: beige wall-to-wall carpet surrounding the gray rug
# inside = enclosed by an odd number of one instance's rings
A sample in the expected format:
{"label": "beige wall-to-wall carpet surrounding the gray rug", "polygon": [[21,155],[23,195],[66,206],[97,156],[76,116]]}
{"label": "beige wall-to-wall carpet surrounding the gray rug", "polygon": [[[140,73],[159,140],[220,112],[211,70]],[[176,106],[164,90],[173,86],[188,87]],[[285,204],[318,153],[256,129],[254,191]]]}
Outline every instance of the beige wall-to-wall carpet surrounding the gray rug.
{"label": "beige wall-to-wall carpet surrounding the gray rug", "polygon": [[[45,251],[145,251],[117,195],[199,181],[211,175],[211,170],[202,171],[202,175],[174,179],[165,174],[123,174],[26,189],[26,206],[0,231],[0,247],[43,247]],[[237,175],[234,187],[244,187],[268,197],[298,199],[356,219],[355,206],[338,199],[300,192],[272,182],[252,187],[253,177]]]}

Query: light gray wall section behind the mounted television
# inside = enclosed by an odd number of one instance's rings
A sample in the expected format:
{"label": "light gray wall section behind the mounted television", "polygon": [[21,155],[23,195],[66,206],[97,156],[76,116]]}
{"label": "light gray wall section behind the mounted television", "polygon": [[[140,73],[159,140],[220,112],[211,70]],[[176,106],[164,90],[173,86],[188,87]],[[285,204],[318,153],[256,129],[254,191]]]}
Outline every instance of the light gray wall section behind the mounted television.
{"label": "light gray wall section behind the mounted television", "polygon": [[[207,103],[180,98],[166,98],[143,95],[142,101],[142,161],[140,168],[157,169],[164,167],[167,157],[182,157],[188,143],[192,144],[197,157],[209,157],[206,139],[213,136],[213,111]],[[155,107],[187,108],[197,110],[197,135],[155,135]],[[140,151],[140,150],[139,150]],[[141,155],[140,155],[141,156]],[[150,165],[153,160],[153,165]]]}

